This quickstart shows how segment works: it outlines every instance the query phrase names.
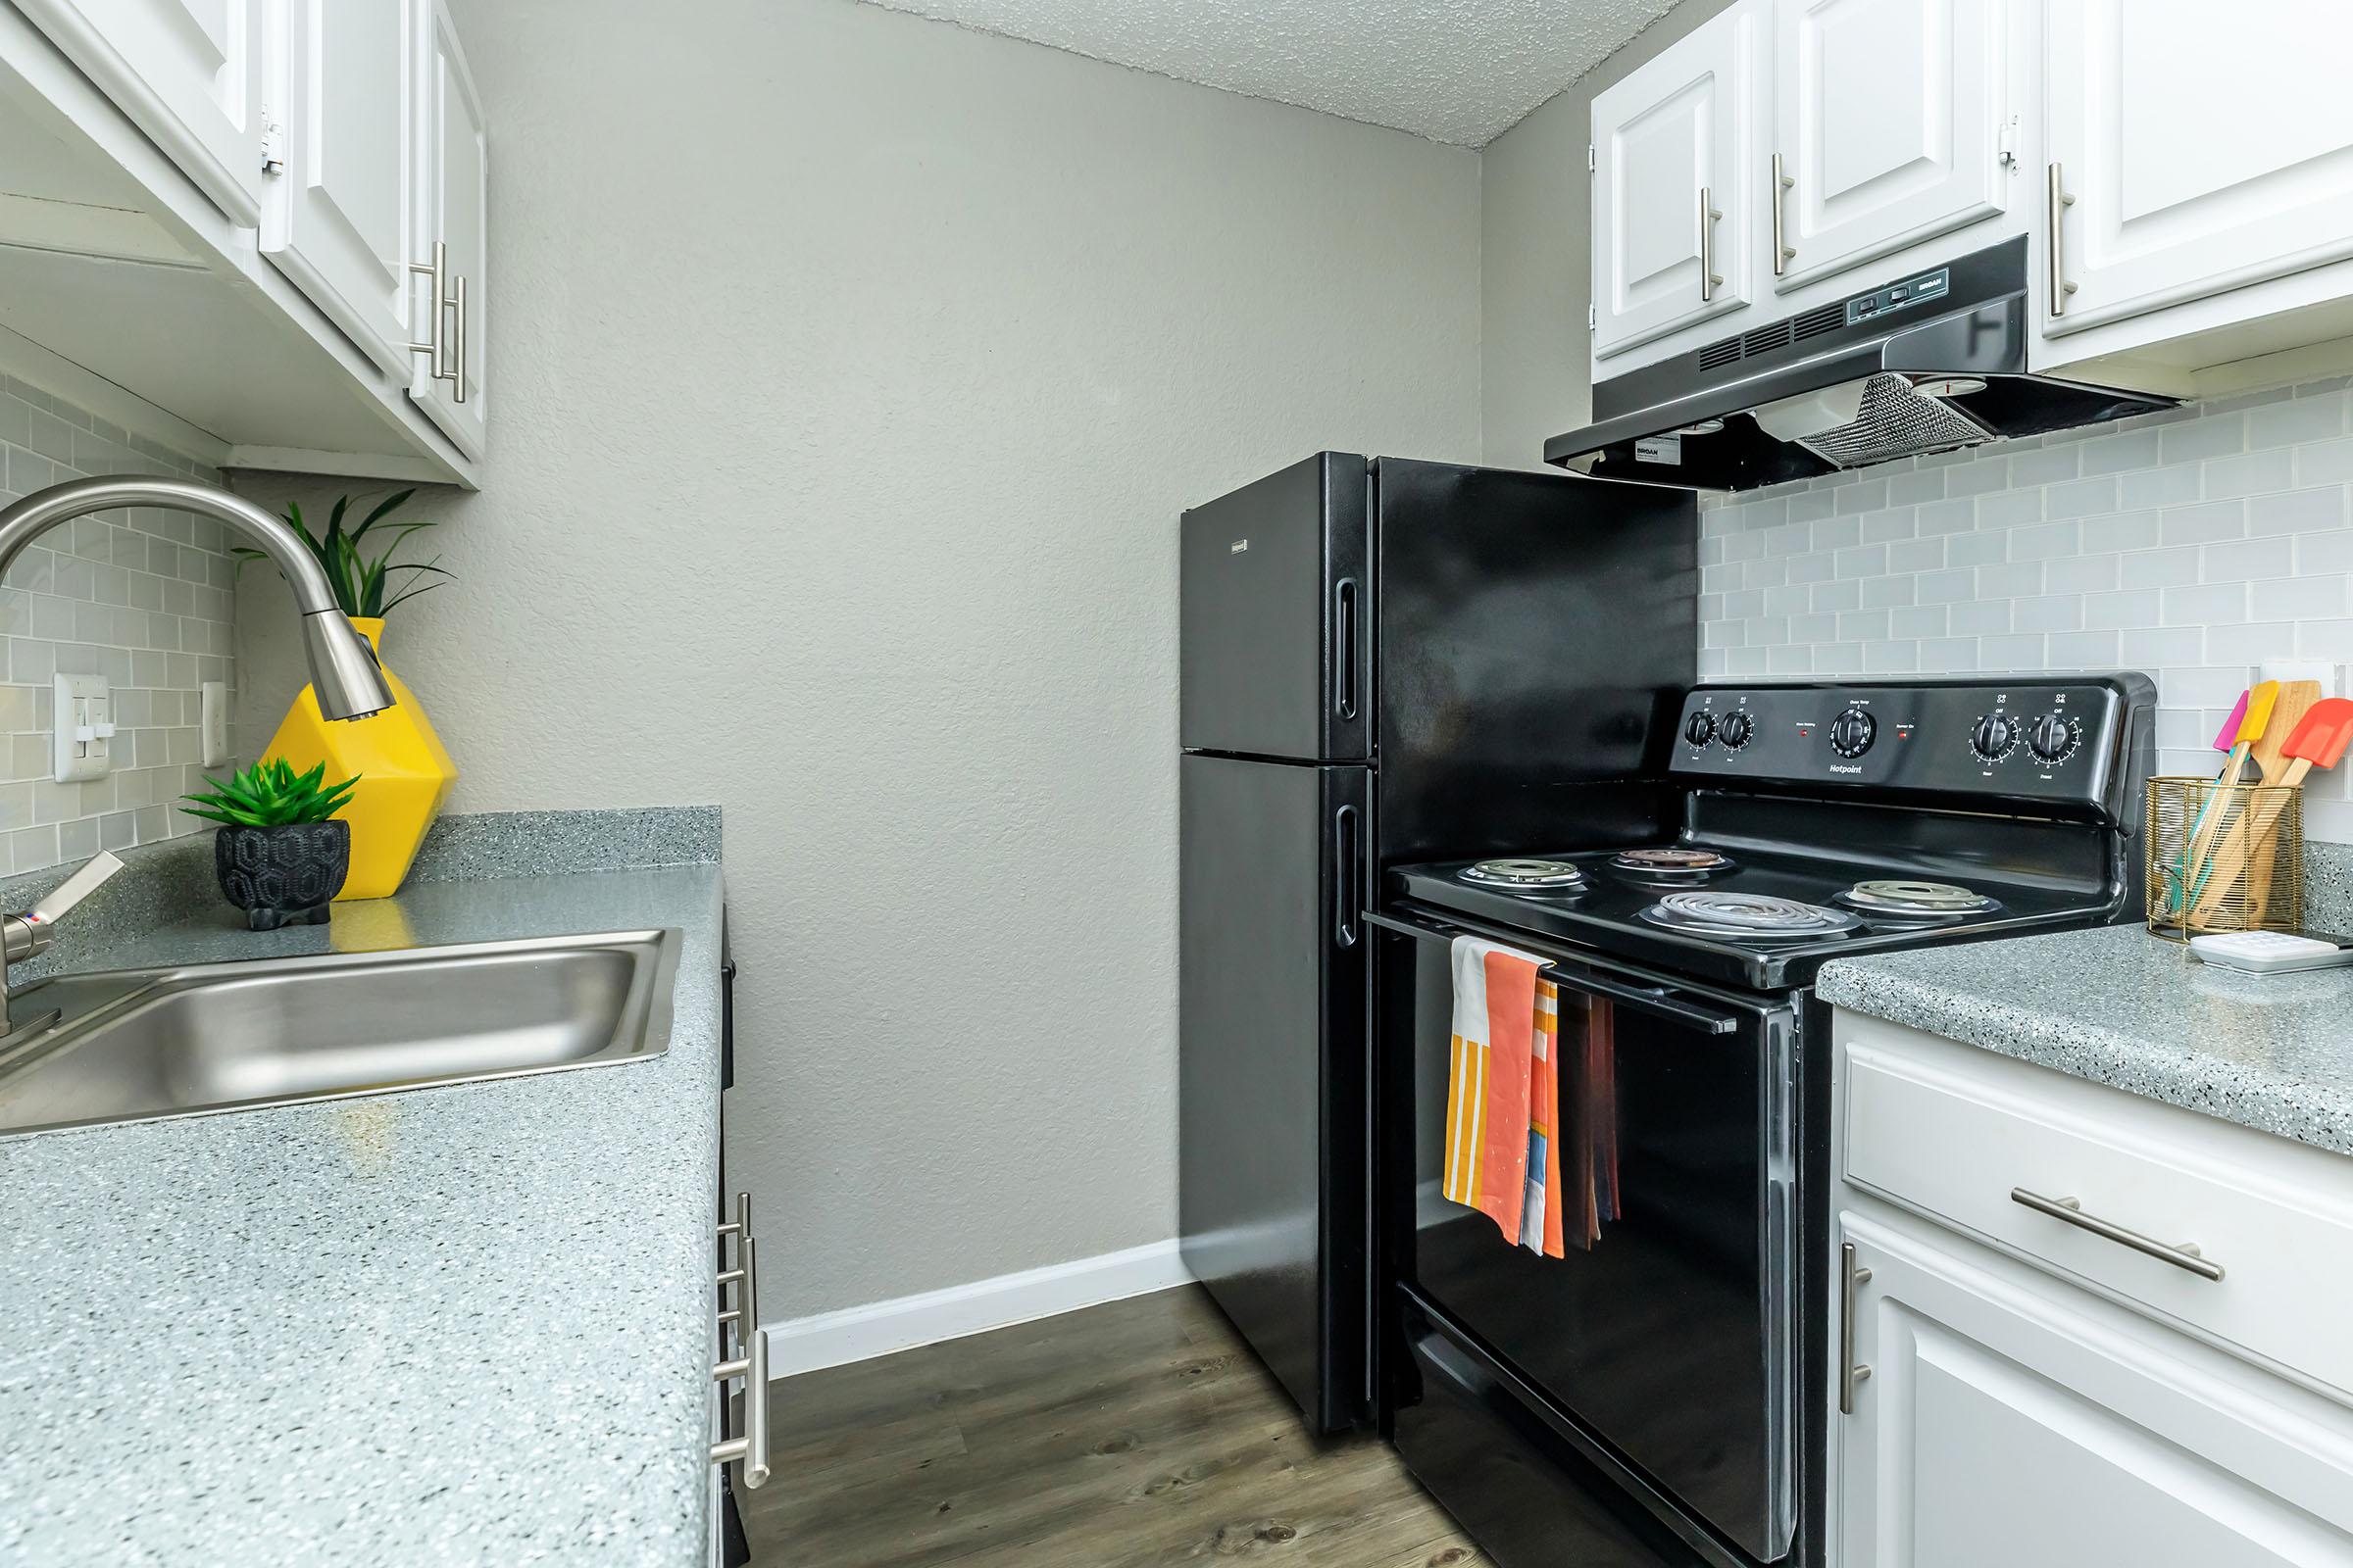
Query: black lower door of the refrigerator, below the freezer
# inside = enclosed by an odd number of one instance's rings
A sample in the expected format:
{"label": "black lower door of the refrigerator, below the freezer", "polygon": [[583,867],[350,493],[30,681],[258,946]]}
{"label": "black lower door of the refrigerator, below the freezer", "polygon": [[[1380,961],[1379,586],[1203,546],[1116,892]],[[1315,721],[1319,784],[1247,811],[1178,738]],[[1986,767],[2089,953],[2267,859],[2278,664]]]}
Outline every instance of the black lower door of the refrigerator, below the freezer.
{"label": "black lower door of the refrigerator, below the freezer", "polygon": [[1369,1410],[1360,766],[1186,757],[1179,1232],[1308,1422]]}

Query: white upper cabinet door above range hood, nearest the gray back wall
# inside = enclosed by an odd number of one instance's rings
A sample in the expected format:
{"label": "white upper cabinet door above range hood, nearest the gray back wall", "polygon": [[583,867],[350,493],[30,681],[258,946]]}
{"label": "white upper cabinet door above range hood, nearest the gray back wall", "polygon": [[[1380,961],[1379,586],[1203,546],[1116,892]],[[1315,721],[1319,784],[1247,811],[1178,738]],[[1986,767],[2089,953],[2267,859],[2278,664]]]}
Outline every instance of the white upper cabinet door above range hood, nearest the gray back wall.
{"label": "white upper cabinet door above range hood, nearest the gray back wall", "polygon": [[1593,353],[1755,299],[1760,2],[1744,0],[1593,99]]}

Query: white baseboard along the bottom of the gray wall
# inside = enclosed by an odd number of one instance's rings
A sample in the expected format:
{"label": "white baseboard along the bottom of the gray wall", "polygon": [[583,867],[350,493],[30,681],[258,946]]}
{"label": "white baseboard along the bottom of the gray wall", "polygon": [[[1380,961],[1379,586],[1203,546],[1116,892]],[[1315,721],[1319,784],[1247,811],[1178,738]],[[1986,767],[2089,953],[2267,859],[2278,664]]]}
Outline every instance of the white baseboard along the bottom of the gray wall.
{"label": "white baseboard along the bottom of the gray wall", "polygon": [[1153,1241],[1125,1253],[1075,1258],[1042,1269],[974,1279],[946,1291],[767,1324],[767,1375],[791,1378],[826,1366],[868,1361],[894,1349],[939,1345],[967,1333],[1028,1324],[1146,1291],[1167,1291],[1191,1279],[1176,1255],[1176,1241]]}

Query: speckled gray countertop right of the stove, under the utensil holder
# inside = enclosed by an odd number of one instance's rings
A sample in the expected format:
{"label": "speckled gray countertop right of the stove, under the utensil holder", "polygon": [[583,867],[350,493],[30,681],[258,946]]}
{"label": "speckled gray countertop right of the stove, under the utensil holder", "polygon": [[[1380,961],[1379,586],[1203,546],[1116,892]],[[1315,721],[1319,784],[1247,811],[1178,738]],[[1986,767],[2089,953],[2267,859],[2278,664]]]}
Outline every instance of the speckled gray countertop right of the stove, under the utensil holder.
{"label": "speckled gray countertop right of the stove, under the utensil holder", "polygon": [[2353,1154],[2353,971],[2245,976],[2141,926],[1824,964],[1824,1001]]}

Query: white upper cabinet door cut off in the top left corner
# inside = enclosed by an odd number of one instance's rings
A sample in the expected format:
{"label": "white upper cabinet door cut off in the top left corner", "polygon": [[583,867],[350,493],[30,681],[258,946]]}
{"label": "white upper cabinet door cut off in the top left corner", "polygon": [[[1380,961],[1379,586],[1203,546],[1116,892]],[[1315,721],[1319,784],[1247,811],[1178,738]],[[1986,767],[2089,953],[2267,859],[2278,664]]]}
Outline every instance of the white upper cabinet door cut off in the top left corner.
{"label": "white upper cabinet door cut off in the top left corner", "polygon": [[261,219],[264,0],[16,0],[228,214]]}

